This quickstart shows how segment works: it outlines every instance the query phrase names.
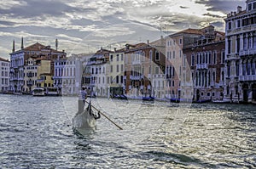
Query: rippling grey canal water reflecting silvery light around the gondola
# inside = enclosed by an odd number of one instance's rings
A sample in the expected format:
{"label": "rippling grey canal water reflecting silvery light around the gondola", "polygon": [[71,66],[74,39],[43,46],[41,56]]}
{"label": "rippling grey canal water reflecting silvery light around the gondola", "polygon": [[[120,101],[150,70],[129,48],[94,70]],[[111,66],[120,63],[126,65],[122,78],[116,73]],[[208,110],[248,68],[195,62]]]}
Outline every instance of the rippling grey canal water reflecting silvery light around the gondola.
{"label": "rippling grey canal water reflecting silvery light around the gondola", "polygon": [[91,99],[123,130],[74,132],[76,97],[0,100],[0,168],[256,168],[253,105]]}

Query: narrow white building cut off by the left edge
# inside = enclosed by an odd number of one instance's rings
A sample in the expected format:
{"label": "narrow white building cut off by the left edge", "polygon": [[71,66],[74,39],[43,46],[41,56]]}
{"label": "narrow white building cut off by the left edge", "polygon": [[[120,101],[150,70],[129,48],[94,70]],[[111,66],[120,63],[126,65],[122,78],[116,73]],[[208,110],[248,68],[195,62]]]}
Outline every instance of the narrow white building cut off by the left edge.
{"label": "narrow white building cut off by the left edge", "polygon": [[9,60],[0,58],[0,93],[9,91]]}

